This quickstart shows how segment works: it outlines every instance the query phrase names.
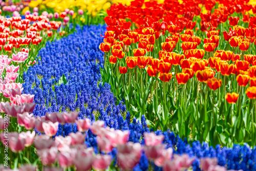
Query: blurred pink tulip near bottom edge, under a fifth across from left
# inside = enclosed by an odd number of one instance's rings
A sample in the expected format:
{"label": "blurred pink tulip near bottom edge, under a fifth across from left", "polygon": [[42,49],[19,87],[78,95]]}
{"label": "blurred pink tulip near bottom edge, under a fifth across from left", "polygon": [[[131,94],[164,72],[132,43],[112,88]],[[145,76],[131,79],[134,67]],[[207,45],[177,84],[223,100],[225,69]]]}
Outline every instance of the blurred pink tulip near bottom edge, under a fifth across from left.
{"label": "blurred pink tulip near bottom edge, under a fifth across from left", "polygon": [[55,163],[57,159],[57,153],[58,148],[57,147],[51,147],[51,148],[45,148],[40,149],[36,152],[38,157],[40,158],[43,165],[49,165]]}

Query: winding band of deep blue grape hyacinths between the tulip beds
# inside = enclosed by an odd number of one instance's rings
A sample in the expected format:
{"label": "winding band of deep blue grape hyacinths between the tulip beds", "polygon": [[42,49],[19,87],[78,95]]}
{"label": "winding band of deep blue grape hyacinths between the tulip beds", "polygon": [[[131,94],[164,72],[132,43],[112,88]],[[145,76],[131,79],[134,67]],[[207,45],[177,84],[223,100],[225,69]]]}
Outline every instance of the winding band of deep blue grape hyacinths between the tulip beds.
{"label": "winding band of deep blue grape hyacinths between the tulip beds", "polygon": [[[117,100],[110,91],[110,85],[102,85],[100,67],[103,67],[103,53],[99,50],[99,44],[103,37],[105,26],[76,27],[77,32],[68,37],[47,42],[46,47],[39,51],[37,65],[30,67],[24,74],[24,93],[34,94],[36,103],[33,111],[35,116],[44,116],[46,112],[79,111],[79,118],[103,120],[106,126],[120,130],[129,130],[129,141],[144,143],[144,132],[150,132],[145,117],[140,121],[131,118],[123,101],[116,105]],[[65,75],[67,83],[60,84],[59,80]],[[62,78],[61,78],[62,77]],[[65,82],[65,81],[64,81]],[[124,117],[123,117],[124,116]],[[68,135],[76,132],[76,124],[67,123],[63,126],[63,132]],[[62,126],[59,132],[62,134]],[[248,145],[234,145],[232,148],[215,148],[207,143],[199,141],[189,144],[173,132],[156,132],[164,135],[164,143],[167,147],[173,147],[176,154],[188,154],[196,157],[193,170],[200,169],[200,158],[216,157],[218,164],[227,169],[256,170],[256,150]],[[88,146],[97,150],[96,136],[89,130],[86,142]],[[115,156],[116,149],[112,155]],[[116,162],[116,161],[115,161]],[[145,154],[134,170],[147,170],[148,163]],[[153,164],[153,163],[152,163]],[[159,167],[154,167],[161,170]]]}

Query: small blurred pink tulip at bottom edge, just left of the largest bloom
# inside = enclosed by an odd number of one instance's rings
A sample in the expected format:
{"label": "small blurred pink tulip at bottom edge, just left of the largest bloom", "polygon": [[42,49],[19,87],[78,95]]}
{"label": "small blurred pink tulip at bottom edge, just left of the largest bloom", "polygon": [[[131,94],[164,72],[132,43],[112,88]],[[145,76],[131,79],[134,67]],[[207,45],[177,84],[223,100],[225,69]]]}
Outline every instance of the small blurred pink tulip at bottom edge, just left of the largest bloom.
{"label": "small blurred pink tulip at bottom edge, just left of the largest bloom", "polygon": [[93,159],[93,168],[96,170],[105,170],[111,164],[110,155],[96,155]]}

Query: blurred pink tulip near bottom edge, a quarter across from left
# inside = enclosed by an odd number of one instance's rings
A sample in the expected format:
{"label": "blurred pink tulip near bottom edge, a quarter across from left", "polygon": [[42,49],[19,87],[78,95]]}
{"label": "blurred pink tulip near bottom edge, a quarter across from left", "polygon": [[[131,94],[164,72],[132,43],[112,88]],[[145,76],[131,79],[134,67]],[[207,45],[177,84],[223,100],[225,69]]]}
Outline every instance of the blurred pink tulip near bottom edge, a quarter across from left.
{"label": "blurred pink tulip near bottom edge, a quarter across from left", "polygon": [[60,167],[67,168],[73,165],[75,159],[76,150],[70,149],[68,152],[61,152],[58,155],[58,162]]}

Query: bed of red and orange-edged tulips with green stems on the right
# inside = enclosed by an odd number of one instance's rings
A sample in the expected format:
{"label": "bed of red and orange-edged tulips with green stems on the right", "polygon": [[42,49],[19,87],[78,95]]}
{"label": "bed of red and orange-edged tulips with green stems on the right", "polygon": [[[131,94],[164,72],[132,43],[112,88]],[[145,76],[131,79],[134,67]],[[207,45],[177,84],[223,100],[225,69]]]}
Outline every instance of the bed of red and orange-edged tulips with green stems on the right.
{"label": "bed of red and orange-edged tulips with green stems on the right", "polygon": [[[256,9],[244,1],[218,3],[213,9],[217,4],[205,2],[206,13],[199,1],[114,4],[99,48],[103,80],[135,117],[145,114],[155,129],[227,145],[255,130],[256,16],[248,11]],[[228,125],[216,136],[220,124]]]}

